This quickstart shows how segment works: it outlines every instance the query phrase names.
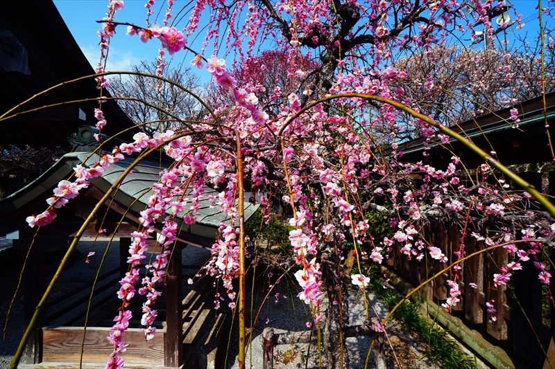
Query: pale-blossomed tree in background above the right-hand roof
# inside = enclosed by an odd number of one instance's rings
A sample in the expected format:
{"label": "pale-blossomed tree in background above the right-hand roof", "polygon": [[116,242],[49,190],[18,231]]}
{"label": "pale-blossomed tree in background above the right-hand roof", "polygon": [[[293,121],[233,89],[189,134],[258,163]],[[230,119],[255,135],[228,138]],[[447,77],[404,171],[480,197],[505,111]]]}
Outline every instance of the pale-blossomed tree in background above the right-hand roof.
{"label": "pale-blossomed tree in background above the right-hand roof", "polygon": [[[546,60],[553,57],[552,46],[546,48]],[[522,47],[509,53],[452,44],[400,57],[394,65],[407,77],[393,85],[404,91],[413,107],[447,127],[542,94],[537,45],[533,50]],[[434,81],[433,89],[425,87],[429,78]],[[554,91],[555,66],[549,62],[545,64],[545,81],[545,92]],[[407,130],[399,132],[400,138],[420,136],[409,120],[404,127]]]}

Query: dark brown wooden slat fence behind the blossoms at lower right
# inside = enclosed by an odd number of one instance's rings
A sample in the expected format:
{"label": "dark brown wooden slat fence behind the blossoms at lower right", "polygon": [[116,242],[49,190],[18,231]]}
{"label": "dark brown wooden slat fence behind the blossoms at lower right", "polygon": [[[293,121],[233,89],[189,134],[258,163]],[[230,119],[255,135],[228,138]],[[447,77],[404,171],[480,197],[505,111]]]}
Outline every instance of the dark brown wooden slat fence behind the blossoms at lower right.
{"label": "dark brown wooden slat fence behind the blossoms at lower right", "polygon": [[[448,262],[434,260],[428,252],[418,261],[414,255],[402,253],[401,247],[404,245],[396,242],[387,265],[415,286],[458,260],[454,252],[460,251],[461,246],[459,228],[451,224],[434,222],[422,228],[420,233],[425,247],[440,248]],[[486,247],[470,233],[470,229],[467,229],[464,242],[466,255]],[[417,239],[413,240],[416,241]],[[521,249],[525,247],[527,246],[520,244]],[[555,291],[555,277],[552,278],[551,285],[543,286],[538,280],[539,270],[534,267],[533,262],[543,261],[546,266],[549,265],[547,258],[555,260],[555,253],[549,253],[550,255],[530,255],[530,260],[520,262],[522,270],[512,272],[509,285],[496,286],[493,274],[499,273],[499,267],[514,261],[515,257],[502,248],[484,251],[460,264],[459,270],[450,269],[438,276],[425,287],[427,299],[434,300],[438,305],[444,303],[449,297],[450,289],[446,281],[456,280],[461,290],[461,302],[452,307],[451,314],[463,319],[467,325],[481,332],[486,339],[514,355],[529,368],[542,368],[552,341],[552,327],[555,325],[555,310],[550,293]],[[555,276],[553,270],[551,273]],[[486,302],[495,307],[495,313],[487,312]],[[555,346],[552,350],[555,350]]]}

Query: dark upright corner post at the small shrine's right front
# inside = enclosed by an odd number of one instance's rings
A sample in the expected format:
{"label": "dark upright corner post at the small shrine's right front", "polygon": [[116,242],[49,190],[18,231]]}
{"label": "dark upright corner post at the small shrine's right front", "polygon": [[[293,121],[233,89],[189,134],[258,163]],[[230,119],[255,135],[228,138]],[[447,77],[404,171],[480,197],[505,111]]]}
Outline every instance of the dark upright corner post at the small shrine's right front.
{"label": "dark upright corner post at the small shrine's right front", "polygon": [[183,357],[181,273],[181,247],[177,245],[171,253],[166,275],[164,366],[167,368],[178,368]]}

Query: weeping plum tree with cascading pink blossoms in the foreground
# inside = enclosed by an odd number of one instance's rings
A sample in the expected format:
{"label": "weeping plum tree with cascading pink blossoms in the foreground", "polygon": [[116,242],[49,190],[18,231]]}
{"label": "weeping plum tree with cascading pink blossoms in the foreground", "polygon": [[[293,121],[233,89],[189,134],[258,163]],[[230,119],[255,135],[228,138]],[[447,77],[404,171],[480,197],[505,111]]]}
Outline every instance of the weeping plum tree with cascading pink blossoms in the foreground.
{"label": "weeping plum tree with cascading pink blossoms in the foreground", "polygon": [[[125,331],[131,318],[126,306],[131,298],[137,298],[136,294],[146,298],[142,316],[146,339],[155,334],[155,300],[160,296],[160,281],[176,240],[176,216],[185,212],[183,222],[196,222],[205,186],[221,189],[219,196],[210,200],[230,219],[220,226],[221,237],[213,246],[206,273],[222,280],[228,291],[226,303],[237,308],[241,368],[245,366],[246,255],[255,255],[244,247],[245,183],[259,195],[266,219],[270,219],[273,194],[282,193],[282,201],[293,209],[290,223],[294,229],[289,233],[293,255],[285,264],[293,266],[300,291],[298,298],[309,307],[308,325],[321,330],[321,350],[329,368],[348,367],[349,353],[344,344],[348,294],[353,285],[363,290],[368,287],[367,271],[361,263],[363,255],[381,264],[393,243],[400,242],[402,252],[415,262],[425,255],[447,260],[441,249],[421,237],[421,230],[437,220],[452,222],[459,228],[461,248],[450,267],[456,269],[456,263],[466,258],[464,242],[472,233],[488,249],[504,247],[515,255],[514,262],[499,265],[499,272],[494,275],[492,282],[502,285],[520,268],[521,260],[552,245],[554,207],[533,186],[499,163],[495,153],[483,152],[445,125],[436,123],[432,119],[436,108],[427,108],[421,114],[418,99],[444,92],[434,80],[437,71],[430,70],[419,77],[408,70],[408,62],[399,62],[402,57],[418,53],[432,58],[436,50],[452,42],[451,35],[470,33],[472,24],[477,22],[484,24],[486,34],[493,38],[490,15],[494,10],[502,10],[504,3],[197,0],[193,4],[193,8],[186,5],[180,12],[179,19],[185,19],[183,12],[189,11],[187,23],[178,24],[173,21],[175,1],[164,3],[165,11],[160,13],[155,12],[154,1],[148,1],[146,24],[141,25],[116,19],[123,1],[110,1],[106,17],[100,22],[102,54],[95,78],[99,89],[108,86],[108,73],[103,68],[106,50],[115,28],[127,27],[128,35],[140,37],[143,42],[160,42],[157,71],[151,78],[173,83],[164,78],[167,58],[192,52],[191,66],[205,67],[212,75],[217,86],[214,93],[222,95],[219,103],[204,103],[209,113],[201,120],[169,114],[184,125],[183,129],[156,132],[152,136],[137,134],[133,143],[103,147],[105,152],[98,163],[87,168],[78,165],[76,179],[60,182],[44,213],[28,217],[30,226],[53,222],[58,208],[76,197],[89,179],[101,176],[108,165],[124,155],[138,153],[140,160],[149,152],[161,150],[173,159],[173,165],[163,170],[160,181],[153,185],[148,208],[141,213],[142,226],[132,234],[130,270],[121,280],[118,296],[122,305],[109,338],[114,352],[106,368],[123,366],[119,354],[125,348]],[[545,16],[548,12],[549,9],[545,10]],[[165,17],[153,19],[154,14]],[[210,17],[207,25],[202,24],[204,17]],[[520,17],[515,19],[519,25]],[[189,42],[197,36],[199,28],[207,36],[200,50],[195,51]],[[287,71],[274,71],[285,75],[283,82],[279,88],[263,91],[262,82],[249,81],[257,80],[256,75],[263,69],[260,61],[267,62],[259,57],[258,51],[269,43],[280,50],[286,61],[275,65]],[[212,49],[208,49],[210,45]],[[540,57],[540,65],[542,62]],[[502,68],[504,78],[516,82],[512,65],[507,66]],[[268,65],[264,67],[267,70]],[[545,91],[543,69],[534,78]],[[466,83],[483,82],[471,79]],[[422,93],[414,93],[415,89]],[[507,124],[511,124],[518,122],[522,112],[513,105],[519,96],[513,96],[511,89],[508,93],[513,109]],[[452,101],[458,99],[472,97],[457,96]],[[151,105],[151,108],[163,111],[162,107]],[[99,129],[110,124],[103,117],[102,104],[95,116]],[[448,145],[450,138],[462,141],[484,163],[472,176],[457,156],[452,156],[445,168],[432,168],[422,162],[406,163],[398,145],[408,130],[418,132],[427,143]],[[133,165],[122,178],[132,169]],[[520,190],[509,189],[509,181]],[[544,210],[528,208],[531,197]],[[395,231],[391,240],[374,239],[366,219],[368,210],[390,219]],[[163,224],[159,254],[148,275],[141,276],[137,266],[145,258],[145,240],[155,222]],[[74,245],[75,242],[71,247]],[[344,269],[341,258],[346,253],[355,255],[358,273],[349,275]],[[540,263],[538,268],[538,278],[548,283],[550,275],[545,265]],[[237,291],[232,283],[234,278],[239,278]],[[142,285],[137,291],[135,282]],[[455,280],[449,282],[446,309],[456,304],[460,295]],[[330,303],[325,312],[321,309],[324,298],[336,302]],[[37,314],[42,304],[44,301]],[[489,308],[491,316],[495,309],[494,305]],[[368,325],[373,330],[383,330],[379,323],[370,324],[368,320]],[[16,355],[14,363],[17,359]]]}

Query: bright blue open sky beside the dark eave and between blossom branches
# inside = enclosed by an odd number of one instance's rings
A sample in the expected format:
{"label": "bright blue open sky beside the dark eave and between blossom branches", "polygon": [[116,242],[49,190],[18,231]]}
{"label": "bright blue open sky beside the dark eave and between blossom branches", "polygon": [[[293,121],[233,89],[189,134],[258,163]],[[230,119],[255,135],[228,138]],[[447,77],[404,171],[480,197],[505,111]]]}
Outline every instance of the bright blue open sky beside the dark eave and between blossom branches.
{"label": "bright blue open sky beside the dark eave and between blossom branches", "polygon": [[[143,26],[145,24],[144,19],[146,19],[146,9],[144,8],[145,2],[146,0],[125,0],[125,8],[117,12],[116,20],[130,21],[139,26]],[[174,12],[177,12],[180,8],[180,3],[187,2],[177,1],[176,5],[173,6],[175,10]],[[99,59],[99,37],[96,34],[96,31],[99,29],[99,24],[96,23],[96,20],[104,17],[108,1],[54,0],[54,3],[89,62],[91,62],[93,66],[96,65]],[[163,1],[158,0],[156,2],[156,9],[160,8],[162,3]],[[494,2],[494,4],[495,3],[497,2]],[[518,12],[522,13],[522,19],[526,20],[527,23],[522,30],[516,32],[524,35],[524,32],[528,30],[530,34],[536,34],[538,30],[538,21],[536,19],[538,10],[536,10],[535,7],[537,6],[538,1],[517,0],[513,1],[513,3],[515,4]],[[547,0],[543,0],[543,6],[547,6]],[[155,15],[151,17],[155,17]],[[185,18],[185,21],[186,19],[187,17]],[[153,21],[153,18],[151,18],[151,21]],[[161,21],[158,23],[160,24]],[[128,71],[131,69],[131,66],[138,64],[141,60],[154,60],[157,55],[157,48],[160,47],[160,42],[153,40],[148,42],[148,44],[143,44],[139,37],[128,37],[125,33],[126,28],[120,26],[117,28],[116,37],[114,37],[111,41],[110,57],[108,57],[107,67],[109,71]],[[210,56],[210,49],[207,51],[207,55]],[[167,55],[167,57],[169,57],[169,55]],[[177,53],[175,57],[176,62],[181,62],[185,59],[185,64],[188,64],[193,55],[182,52]],[[203,75],[205,73],[206,75]],[[206,71],[203,71],[200,72],[200,77],[210,78],[210,75],[208,75]]]}

